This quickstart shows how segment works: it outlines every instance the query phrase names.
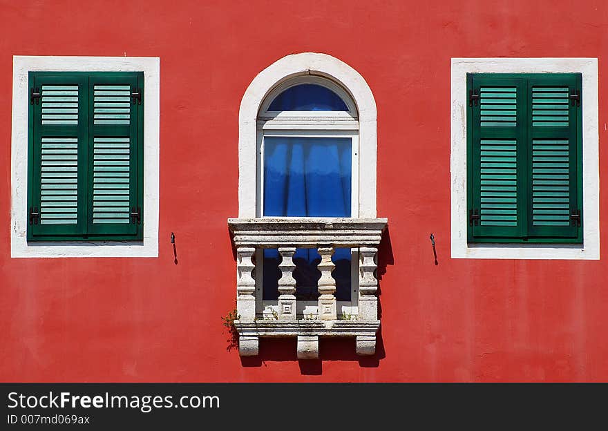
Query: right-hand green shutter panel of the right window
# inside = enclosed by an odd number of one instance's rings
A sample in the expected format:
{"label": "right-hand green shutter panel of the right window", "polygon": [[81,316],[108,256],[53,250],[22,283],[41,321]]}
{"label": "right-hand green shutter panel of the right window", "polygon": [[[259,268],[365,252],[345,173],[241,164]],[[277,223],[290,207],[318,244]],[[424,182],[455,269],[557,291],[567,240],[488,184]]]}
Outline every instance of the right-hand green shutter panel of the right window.
{"label": "right-hand green shutter panel of the right window", "polygon": [[528,79],[528,233],[531,238],[578,238],[570,214],[582,209],[578,123],[580,106],[569,95],[580,74],[531,75]]}

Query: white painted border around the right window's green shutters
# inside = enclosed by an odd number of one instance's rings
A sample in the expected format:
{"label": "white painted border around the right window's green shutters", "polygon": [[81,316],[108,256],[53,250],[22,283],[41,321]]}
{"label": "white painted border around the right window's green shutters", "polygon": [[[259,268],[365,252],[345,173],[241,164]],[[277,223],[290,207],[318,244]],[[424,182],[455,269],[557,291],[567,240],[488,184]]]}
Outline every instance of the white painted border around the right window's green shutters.
{"label": "white painted border around the right window's green shutters", "polygon": [[[582,73],[583,245],[478,244],[466,242],[466,74]],[[598,137],[598,59],[453,58],[451,73],[452,258],[599,259],[600,172]]]}

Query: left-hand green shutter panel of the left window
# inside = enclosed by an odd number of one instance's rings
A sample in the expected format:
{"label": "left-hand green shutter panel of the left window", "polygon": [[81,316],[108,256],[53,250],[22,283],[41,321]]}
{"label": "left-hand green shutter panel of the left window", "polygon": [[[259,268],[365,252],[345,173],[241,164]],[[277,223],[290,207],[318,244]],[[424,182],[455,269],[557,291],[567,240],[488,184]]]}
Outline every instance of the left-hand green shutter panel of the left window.
{"label": "left-hand green shutter panel of the left window", "polygon": [[30,73],[29,240],[82,236],[86,229],[86,77]]}

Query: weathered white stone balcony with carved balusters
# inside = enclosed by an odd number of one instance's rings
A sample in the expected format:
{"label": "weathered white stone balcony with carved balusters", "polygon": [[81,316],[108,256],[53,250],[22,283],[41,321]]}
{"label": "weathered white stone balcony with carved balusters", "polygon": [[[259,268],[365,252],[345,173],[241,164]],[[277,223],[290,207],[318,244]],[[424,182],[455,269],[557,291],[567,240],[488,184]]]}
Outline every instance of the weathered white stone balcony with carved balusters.
{"label": "weathered white stone balcony with carved balusters", "polygon": [[[236,247],[236,309],[234,325],[239,334],[239,354],[256,356],[260,337],[296,337],[298,358],[319,357],[319,337],[350,336],[357,339],[357,354],[372,355],[376,349],[378,298],[375,269],[386,218],[231,218],[228,226]],[[293,261],[296,249],[316,248],[321,256],[317,269],[319,300],[316,314],[297,314]],[[336,248],[357,250],[359,285],[357,313],[348,318],[336,307],[336,280],[332,277]],[[276,312],[263,314],[256,299],[254,256],[258,249],[278,249],[278,304]],[[258,281],[258,284],[260,282]]]}

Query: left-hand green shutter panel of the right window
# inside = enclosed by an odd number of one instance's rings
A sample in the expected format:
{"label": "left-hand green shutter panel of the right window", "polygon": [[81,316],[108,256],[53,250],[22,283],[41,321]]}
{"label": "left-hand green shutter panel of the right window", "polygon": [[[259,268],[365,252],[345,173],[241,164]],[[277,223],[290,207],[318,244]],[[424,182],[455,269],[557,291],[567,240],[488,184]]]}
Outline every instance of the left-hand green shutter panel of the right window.
{"label": "left-hand green shutter panel of the right window", "polygon": [[524,199],[525,85],[520,78],[469,75],[468,89],[479,95],[469,108],[468,209],[479,214],[469,223],[469,238],[504,242],[521,237],[526,224]]}

